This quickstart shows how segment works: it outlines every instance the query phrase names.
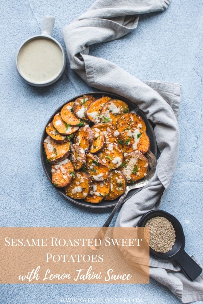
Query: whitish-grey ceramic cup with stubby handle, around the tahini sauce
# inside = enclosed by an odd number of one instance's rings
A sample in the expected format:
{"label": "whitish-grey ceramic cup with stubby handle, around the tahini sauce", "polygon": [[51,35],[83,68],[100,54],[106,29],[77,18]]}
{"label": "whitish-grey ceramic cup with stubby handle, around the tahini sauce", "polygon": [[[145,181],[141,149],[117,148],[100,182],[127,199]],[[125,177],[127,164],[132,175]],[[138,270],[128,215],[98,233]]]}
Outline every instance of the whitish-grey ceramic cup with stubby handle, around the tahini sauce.
{"label": "whitish-grey ceramic cup with stubby handle, around the tahini sauce", "polygon": [[[17,69],[19,75],[30,85],[37,86],[37,87],[44,87],[44,86],[47,86],[47,85],[51,85],[52,83],[54,83],[55,81],[57,81],[61,77],[61,75],[63,74],[63,72],[65,70],[66,60],[65,60],[64,49],[61,46],[61,44],[51,36],[52,31],[53,31],[53,27],[54,27],[54,22],[55,22],[54,17],[44,16],[41,34],[40,35],[35,35],[35,36],[32,36],[32,37],[26,39],[20,45],[20,47],[17,50],[17,53],[16,53],[16,69]],[[26,43],[28,43],[28,42],[30,42],[31,40],[34,40],[34,39],[48,39],[48,40],[51,40],[52,42],[56,43],[56,45],[61,50],[61,53],[62,53],[62,63],[60,65],[61,69],[51,79],[47,79],[45,81],[32,81],[31,79],[26,77],[25,74],[23,74],[21,68],[19,67],[18,57],[19,57],[20,50],[22,50],[22,47],[24,47]]]}

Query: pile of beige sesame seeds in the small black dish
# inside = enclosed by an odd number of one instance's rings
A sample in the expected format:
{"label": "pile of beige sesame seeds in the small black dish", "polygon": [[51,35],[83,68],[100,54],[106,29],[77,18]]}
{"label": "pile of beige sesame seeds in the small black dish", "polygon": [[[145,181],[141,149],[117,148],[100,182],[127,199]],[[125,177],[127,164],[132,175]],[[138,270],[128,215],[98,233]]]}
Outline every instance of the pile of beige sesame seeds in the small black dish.
{"label": "pile of beige sesame seeds in the small black dish", "polygon": [[175,244],[176,234],[172,223],[163,216],[152,217],[145,225],[149,227],[149,246],[161,253],[170,251]]}

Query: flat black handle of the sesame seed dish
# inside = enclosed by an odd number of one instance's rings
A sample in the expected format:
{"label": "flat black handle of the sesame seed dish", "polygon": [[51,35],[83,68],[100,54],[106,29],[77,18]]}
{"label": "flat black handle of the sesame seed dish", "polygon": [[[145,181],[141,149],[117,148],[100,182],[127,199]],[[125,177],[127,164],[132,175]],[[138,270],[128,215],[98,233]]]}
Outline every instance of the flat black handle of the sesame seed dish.
{"label": "flat black handle of the sesame seed dish", "polygon": [[194,281],[202,272],[201,267],[185,252],[180,250],[175,256],[174,260],[180,266],[186,277]]}

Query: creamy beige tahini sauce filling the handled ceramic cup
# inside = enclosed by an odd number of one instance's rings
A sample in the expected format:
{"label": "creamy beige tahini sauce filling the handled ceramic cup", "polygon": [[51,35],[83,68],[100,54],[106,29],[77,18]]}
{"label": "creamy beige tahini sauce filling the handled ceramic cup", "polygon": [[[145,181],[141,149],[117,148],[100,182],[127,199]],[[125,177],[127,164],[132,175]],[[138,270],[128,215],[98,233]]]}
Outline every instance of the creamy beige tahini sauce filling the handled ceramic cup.
{"label": "creamy beige tahini sauce filling the handled ceramic cup", "polygon": [[57,43],[36,38],[23,45],[18,54],[19,71],[34,83],[49,81],[61,71],[63,54]]}

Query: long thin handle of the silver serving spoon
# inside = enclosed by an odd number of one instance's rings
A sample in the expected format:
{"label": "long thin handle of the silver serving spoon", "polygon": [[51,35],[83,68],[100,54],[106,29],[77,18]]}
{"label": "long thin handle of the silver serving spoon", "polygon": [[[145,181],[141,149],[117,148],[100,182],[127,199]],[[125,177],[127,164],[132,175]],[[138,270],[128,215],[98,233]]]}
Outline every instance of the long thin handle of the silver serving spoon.
{"label": "long thin handle of the silver serving spoon", "polygon": [[[101,241],[103,240],[105,234],[106,234],[106,231],[110,225],[110,222],[112,221],[116,211],[119,209],[119,207],[121,206],[122,202],[124,201],[124,198],[126,197],[127,195],[127,191],[124,192],[123,195],[121,195],[119,201],[117,202],[116,206],[114,207],[114,209],[112,210],[110,216],[108,217],[108,219],[106,220],[106,222],[103,224],[103,226],[101,227],[101,229],[99,230],[99,232],[96,234],[96,236],[94,237],[94,239],[100,239]],[[90,248],[92,250],[98,250],[100,247],[100,245],[97,245],[97,246],[90,246]]]}

